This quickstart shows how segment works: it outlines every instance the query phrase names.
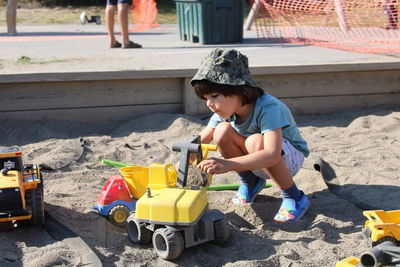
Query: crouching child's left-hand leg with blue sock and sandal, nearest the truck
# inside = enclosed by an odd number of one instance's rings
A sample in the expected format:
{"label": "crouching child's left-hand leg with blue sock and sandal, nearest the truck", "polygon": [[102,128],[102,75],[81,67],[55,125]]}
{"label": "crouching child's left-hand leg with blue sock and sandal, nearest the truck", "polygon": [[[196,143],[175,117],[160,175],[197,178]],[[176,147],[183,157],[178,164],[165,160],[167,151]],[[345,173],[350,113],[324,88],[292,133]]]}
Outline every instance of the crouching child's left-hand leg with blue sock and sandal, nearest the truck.
{"label": "crouching child's left-hand leg with blue sock and sandal, nearest the truck", "polygon": [[[221,155],[226,159],[248,154],[245,147],[246,137],[241,136],[227,122],[218,124],[214,131],[213,140],[218,145]],[[256,185],[262,189],[265,181],[261,184],[259,178],[251,171],[243,171],[238,174],[240,186],[238,192],[232,198],[232,203],[245,204],[252,202],[256,196],[253,189]],[[257,189],[257,194],[261,189]]]}

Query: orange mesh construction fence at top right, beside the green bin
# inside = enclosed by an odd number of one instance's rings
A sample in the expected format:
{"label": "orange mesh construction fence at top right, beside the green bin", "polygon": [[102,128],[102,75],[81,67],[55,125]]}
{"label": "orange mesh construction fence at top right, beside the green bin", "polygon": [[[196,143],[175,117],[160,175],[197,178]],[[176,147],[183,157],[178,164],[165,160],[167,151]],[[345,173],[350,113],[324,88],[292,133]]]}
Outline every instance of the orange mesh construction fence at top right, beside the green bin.
{"label": "orange mesh construction fence at top right, beside the green bin", "polygon": [[259,38],[399,55],[397,0],[253,0],[245,27]]}

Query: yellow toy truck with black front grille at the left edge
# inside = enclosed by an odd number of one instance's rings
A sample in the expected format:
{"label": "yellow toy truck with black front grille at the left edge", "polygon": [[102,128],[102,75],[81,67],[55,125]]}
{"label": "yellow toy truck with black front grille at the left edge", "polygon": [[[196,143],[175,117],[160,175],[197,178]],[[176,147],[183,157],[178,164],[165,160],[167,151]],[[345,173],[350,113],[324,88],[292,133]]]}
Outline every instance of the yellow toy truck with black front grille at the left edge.
{"label": "yellow toy truck with black front grille at the left edge", "polygon": [[22,163],[19,147],[0,149],[0,222],[44,223],[40,167]]}

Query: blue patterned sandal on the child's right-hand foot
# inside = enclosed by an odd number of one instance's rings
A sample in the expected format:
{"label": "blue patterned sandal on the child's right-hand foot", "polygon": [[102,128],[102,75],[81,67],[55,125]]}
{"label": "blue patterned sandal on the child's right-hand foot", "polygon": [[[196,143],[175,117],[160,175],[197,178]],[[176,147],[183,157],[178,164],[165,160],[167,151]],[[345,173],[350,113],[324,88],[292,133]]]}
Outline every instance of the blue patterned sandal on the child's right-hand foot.
{"label": "blue patterned sandal on the child's right-hand foot", "polygon": [[298,221],[309,207],[310,202],[303,192],[301,198],[297,201],[292,198],[284,198],[274,220],[277,222]]}

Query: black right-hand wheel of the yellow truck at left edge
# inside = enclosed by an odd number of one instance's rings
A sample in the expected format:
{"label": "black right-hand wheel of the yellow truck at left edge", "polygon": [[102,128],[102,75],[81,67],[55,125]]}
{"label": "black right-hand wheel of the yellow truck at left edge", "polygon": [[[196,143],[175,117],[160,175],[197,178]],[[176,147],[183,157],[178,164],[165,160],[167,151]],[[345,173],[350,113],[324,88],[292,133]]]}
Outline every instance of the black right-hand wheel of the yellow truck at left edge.
{"label": "black right-hand wheel of the yellow truck at left edge", "polygon": [[36,189],[27,190],[25,193],[26,206],[32,211],[31,224],[34,226],[44,224],[43,185],[38,184]]}

